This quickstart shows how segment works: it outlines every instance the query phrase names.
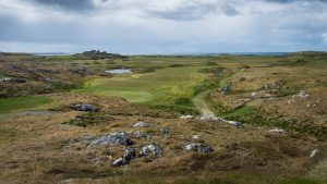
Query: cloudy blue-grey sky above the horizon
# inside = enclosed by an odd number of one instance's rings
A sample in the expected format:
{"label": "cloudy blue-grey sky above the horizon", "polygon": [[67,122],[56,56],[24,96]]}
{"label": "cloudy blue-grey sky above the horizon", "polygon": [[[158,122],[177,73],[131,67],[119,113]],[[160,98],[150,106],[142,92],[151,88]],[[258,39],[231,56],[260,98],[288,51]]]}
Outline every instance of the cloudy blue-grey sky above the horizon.
{"label": "cloudy blue-grey sky above the horizon", "polygon": [[327,0],[0,0],[0,51],[327,50]]}

